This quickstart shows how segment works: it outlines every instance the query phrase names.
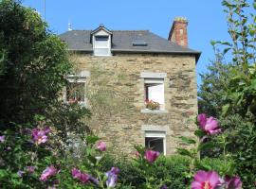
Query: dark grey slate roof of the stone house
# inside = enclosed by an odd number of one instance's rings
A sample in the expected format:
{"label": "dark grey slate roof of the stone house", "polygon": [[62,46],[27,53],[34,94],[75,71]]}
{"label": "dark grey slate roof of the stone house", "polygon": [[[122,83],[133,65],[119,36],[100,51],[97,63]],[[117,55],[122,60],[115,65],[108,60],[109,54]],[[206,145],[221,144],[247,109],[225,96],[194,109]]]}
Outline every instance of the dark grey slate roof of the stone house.
{"label": "dark grey slate roof of the stone house", "polygon": [[[71,51],[93,52],[90,43],[92,30],[71,30],[59,35],[62,41],[67,43]],[[163,53],[163,54],[187,54],[194,55],[196,60],[200,57],[200,52],[180,46],[176,43],[152,33],[149,30],[111,30],[113,33],[112,52],[127,53]],[[135,46],[133,42],[144,41],[146,46]]]}

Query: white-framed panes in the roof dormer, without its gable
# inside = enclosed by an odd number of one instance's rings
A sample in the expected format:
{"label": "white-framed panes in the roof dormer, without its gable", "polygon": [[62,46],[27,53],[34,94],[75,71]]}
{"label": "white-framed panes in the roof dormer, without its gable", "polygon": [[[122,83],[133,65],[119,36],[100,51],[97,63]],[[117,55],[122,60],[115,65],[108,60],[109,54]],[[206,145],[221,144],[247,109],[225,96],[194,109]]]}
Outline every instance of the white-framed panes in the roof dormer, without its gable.
{"label": "white-framed panes in the roof dormer, without its gable", "polygon": [[110,37],[106,35],[94,36],[94,55],[110,56]]}

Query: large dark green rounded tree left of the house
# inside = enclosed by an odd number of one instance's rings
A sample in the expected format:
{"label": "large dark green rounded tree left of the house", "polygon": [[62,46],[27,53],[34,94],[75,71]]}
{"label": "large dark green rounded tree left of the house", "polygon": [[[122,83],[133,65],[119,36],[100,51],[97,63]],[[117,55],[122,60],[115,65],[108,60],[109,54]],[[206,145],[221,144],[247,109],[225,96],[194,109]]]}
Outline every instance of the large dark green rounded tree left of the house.
{"label": "large dark green rounded tree left of the house", "polygon": [[0,4],[0,125],[31,122],[58,101],[71,64],[64,43],[34,9]]}

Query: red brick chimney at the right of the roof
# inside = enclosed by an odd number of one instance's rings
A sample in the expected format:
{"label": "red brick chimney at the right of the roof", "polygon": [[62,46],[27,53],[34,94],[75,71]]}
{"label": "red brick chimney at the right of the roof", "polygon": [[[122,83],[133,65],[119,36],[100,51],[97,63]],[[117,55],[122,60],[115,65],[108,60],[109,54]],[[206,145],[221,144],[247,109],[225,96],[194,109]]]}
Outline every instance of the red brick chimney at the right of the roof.
{"label": "red brick chimney at the right of the roof", "polygon": [[181,46],[188,46],[188,20],[184,17],[176,17],[170,30],[168,40]]}

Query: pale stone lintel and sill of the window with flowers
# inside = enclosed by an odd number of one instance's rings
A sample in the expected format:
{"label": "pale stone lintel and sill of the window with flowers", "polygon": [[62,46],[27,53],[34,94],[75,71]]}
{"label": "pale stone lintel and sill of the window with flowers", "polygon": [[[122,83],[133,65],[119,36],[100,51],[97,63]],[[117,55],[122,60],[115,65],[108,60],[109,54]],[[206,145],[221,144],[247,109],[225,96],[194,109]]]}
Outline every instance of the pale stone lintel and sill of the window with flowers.
{"label": "pale stone lintel and sill of the window with flowers", "polygon": [[[155,72],[141,72],[140,73],[141,78],[162,78],[165,79],[167,77],[167,73],[155,73]],[[167,110],[149,110],[149,109],[143,109],[140,110],[140,112],[143,113],[168,113]]]}

